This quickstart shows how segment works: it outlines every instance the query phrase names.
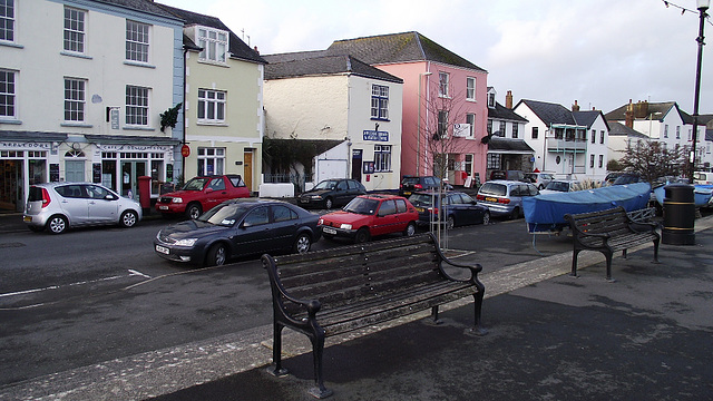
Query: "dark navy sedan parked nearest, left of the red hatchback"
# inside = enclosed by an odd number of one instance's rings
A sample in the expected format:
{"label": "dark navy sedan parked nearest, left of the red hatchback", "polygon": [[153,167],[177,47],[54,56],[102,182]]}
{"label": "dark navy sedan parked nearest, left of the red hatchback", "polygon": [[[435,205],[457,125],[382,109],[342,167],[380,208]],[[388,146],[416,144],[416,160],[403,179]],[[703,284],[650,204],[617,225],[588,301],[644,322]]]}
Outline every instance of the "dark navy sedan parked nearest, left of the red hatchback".
{"label": "dark navy sedan parked nearest, left of the red hatchback", "polygon": [[319,215],[282,200],[231,199],[158,232],[154,251],[169,261],[223,265],[231,257],[306,253],[320,239]]}

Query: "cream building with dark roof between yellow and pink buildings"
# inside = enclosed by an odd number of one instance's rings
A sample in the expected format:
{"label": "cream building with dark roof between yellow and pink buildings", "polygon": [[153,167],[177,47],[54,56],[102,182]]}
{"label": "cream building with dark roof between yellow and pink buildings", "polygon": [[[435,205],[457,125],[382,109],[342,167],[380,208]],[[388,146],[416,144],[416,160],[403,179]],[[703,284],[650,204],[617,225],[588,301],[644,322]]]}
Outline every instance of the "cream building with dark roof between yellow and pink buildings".
{"label": "cream building with dark roof between yellow and pink buildings", "polygon": [[314,182],[349,177],[368,190],[398,188],[400,78],[351,56],[297,52],[264,58],[270,62],[263,92],[265,135],[310,140],[310,146],[330,144],[331,150],[315,154],[312,166],[293,168],[312,173]]}

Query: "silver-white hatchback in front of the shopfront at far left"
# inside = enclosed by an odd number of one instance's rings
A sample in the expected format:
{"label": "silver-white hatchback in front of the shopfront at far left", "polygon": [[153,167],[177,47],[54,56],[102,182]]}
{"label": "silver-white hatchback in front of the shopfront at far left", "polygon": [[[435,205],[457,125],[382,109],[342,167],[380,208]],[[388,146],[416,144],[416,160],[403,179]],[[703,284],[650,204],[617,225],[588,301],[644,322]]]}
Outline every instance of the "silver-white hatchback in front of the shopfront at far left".
{"label": "silver-white hatchback in front of the shopfront at far left", "polygon": [[22,221],[33,232],[61,234],[85,225],[135,226],[141,205],[99,184],[50,183],[30,186]]}

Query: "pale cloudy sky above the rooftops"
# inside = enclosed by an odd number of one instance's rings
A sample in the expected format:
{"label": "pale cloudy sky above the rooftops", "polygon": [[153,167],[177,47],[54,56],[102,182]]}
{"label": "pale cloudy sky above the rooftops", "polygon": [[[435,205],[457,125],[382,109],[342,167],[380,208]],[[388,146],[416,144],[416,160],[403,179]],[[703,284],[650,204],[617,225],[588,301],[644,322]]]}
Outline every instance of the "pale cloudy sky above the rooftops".
{"label": "pale cloudy sky above the rooftops", "polygon": [[[262,55],[418,31],[488,71],[505,104],[575,100],[605,114],[632,99],[693,114],[695,0],[156,0],[218,17]],[[713,14],[713,12],[710,12]],[[713,114],[713,23],[705,23],[700,114]]]}

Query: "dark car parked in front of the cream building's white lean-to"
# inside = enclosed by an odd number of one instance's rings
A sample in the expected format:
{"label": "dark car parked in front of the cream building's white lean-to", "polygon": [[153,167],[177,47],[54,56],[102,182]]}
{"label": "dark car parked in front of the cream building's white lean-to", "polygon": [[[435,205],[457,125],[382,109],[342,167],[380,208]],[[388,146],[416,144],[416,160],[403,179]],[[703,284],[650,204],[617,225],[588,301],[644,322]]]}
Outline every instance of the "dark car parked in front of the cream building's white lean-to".
{"label": "dark car parked in front of the cream building's white lean-to", "polygon": [[324,179],[314,188],[304,192],[297,198],[297,205],[331,209],[334,206],[344,206],[354,197],[364,194],[367,194],[367,188],[356,179]]}

